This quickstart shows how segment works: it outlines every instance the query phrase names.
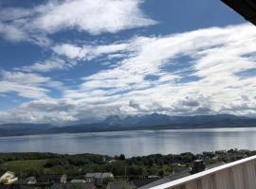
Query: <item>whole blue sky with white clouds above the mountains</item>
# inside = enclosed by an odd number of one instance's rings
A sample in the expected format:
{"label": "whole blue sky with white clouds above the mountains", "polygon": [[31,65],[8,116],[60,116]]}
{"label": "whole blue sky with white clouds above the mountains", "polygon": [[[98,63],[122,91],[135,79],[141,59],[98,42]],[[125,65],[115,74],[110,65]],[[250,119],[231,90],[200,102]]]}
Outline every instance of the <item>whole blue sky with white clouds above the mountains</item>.
{"label": "whole blue sky with white clouds above the mountains", "polygon": [[0,0],[0,123],[256,117],[255,60],[219,0]]}

